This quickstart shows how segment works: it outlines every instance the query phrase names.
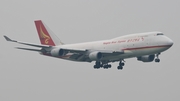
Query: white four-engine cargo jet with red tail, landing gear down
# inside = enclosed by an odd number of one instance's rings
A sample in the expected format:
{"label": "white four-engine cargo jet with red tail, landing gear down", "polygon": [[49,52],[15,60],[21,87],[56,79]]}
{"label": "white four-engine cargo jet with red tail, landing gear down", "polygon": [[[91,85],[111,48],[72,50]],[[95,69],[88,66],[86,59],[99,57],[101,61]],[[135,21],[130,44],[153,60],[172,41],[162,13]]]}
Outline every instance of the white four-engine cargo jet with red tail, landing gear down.
{"label": "white four-engine cargo jet with red tail, landing gear down", "polygon": [[[125,35],[109,40],[64,44],[55,36],[41,20],[35,21],[40,44],[32,44],[12,40],[4,36],[7,41],[37,47],[39,49],[20,48],[37,51],[42,55],[78,62],[95,61],[94,68],[111,68],[109,63],[119,62],[117,69],[123,69],[124,59],[137,57],[142,62],[160,62],[161,52],[169,49],[173,41],[162,32],[147,32]],[[76,37],[76,36],[72,36]]]}

